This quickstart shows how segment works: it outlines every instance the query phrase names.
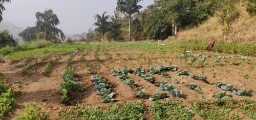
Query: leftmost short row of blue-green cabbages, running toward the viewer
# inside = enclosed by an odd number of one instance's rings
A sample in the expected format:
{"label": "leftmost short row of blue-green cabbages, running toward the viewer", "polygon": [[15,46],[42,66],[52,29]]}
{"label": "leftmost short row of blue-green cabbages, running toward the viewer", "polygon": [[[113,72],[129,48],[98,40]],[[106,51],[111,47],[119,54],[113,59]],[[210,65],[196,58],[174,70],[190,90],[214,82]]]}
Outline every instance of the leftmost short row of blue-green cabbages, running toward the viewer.
{"label": "leftmost short row of blue-green cabbages, running toward the viewer", "polygon": [[111,88],[108,88],[108,80],[100,75],[92,75],[91,79],[94,82],[94,88],[96,93],[102,96],[101,102],[108,103],[117,101],[116,99],[113,99],[115,93],[111,92]]}

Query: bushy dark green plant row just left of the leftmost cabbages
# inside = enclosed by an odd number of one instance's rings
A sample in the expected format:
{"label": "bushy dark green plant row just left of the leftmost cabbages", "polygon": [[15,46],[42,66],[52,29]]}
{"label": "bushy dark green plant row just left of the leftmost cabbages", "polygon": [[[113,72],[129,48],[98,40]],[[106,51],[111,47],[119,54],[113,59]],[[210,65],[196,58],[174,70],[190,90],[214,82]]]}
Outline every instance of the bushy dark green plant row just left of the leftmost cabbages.
{"label": "bushy dark green plant row just left of the leftmost cabbages", "polygon": [[68,104],[71,103],[69,101],[69,94],[72,91],[83,91],[83,87],[74,81],[74,68],[68,68],[64,73],[62,73],[62,83],[60,84],[60,93],[61,98],[60,102]]}

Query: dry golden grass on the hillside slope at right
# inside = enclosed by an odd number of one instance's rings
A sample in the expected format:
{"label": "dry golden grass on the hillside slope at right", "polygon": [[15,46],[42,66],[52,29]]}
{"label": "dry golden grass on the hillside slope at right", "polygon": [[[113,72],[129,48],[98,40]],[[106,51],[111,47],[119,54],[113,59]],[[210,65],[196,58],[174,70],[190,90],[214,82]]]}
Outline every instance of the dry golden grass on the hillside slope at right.
{"label": "dry golden grass on the hillside slope at right", "polygon": [[242,4],[237,5],[240,12],[240,17],[231,23],[232,32],[224,37],[222,29],[225,25],[220,23],[218,17],[210,17],[209,20],[200,24],[198,27],[181,31],[177,38],[170,37],[168,40],[191,40],[199,39],[210,41],[216,39],[217,41],[237,42],[237,43],[251,43],[256,42],[256,16],[250,16]]}

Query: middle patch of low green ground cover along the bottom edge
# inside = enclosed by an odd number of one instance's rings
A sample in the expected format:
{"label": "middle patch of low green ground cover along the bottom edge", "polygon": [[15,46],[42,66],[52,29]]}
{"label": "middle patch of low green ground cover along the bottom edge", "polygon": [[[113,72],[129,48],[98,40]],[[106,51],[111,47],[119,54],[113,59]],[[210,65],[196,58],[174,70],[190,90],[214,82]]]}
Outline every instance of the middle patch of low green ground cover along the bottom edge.
{"label": "middle patch of low green ground cover along the bottom edge", "polygon": [[153,119],[194,119],[194,115],[176,101],[156,101],[152,105],[152,112]]}

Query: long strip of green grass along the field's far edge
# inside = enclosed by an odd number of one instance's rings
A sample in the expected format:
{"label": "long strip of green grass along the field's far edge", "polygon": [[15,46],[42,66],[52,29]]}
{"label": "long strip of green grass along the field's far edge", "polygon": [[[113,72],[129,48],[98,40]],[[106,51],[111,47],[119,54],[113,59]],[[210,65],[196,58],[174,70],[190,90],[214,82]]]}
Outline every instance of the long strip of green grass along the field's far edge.
{"label": "long strip of green grass along the field's far edge", "polygon": [[[153,43],[126,43],[126,42],[115,42],[115,43],[99,43],[99,44],[79,44],[79,45],[67,45],[67,44],[55,44],[45,48],[37,48],[27,51],[17,51],[8,53],[9,59],[16,59],[27,57],[30,55],[41,55],[45,51],[48,52],[71,52],[79,49],[96,49],[96,48],[124,48],[127,50],[138,49],[142,51],[169,51],[175,50],[174,42],[164,42],[164,46],[157,46]],[[181,41],[177,43],[179,49],[189,50],[204,50],[208,43],[204,43],[201,47],[199,40]],[[255,56],[256,45],[255,44],[239,44],[239,43],[216,43],[212,51],[215,52],[226,52],[226,53],[238,53],[243,55]]]}

